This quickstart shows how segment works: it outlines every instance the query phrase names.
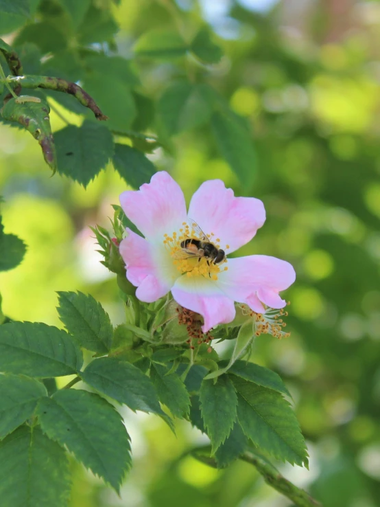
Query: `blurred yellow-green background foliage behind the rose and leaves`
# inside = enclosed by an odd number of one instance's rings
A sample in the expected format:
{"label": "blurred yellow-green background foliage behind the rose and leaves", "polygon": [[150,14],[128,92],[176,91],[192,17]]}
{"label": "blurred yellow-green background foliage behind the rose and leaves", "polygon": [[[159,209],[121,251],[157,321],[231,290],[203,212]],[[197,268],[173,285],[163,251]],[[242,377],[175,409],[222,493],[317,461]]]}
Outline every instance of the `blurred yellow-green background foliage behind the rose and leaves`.
{"label": "blurred yellow-green background foliage behind the rose and leaves", "polygon": [[[280,469],[324,507],[380,506],[380,2],[177,0],[174,10],[169,0],[95,3],[112,12],[119,27],[112,50],[126,58],[152,28],[186,31],[206,22],[215,32],[225,56],[204,69],[204,81],[250,124],[254,185],[239,183],[209,127],[178,135],[170,153],[158,148],[149,157],[187,199],[218,177],[237,195],[264,202],[267,221],[239,254],[288,260],[297,280],[285,294],[291,337],[259,337],[252,360],[285,380],[311,454],[310,471]],[[0,36],[12,43],[23,22],[0,19]],[[181,73],[168,61],[133,65],[152,99]],[[73,124],[82,121],[51,103]],[[64,126],[54,111],[51,124]],[[117,284],[99,264],[89,227],[108,227],[126,184],[112,164],[86,190],[49,176],[34,139],[0,124],[3,224],[28,245],[21,266],[0,275],[3,311],[60,326],[55,291],[80,290],[118,324]],[[291,505],[249,464],[215,471],[187,456],[205,441],[189,424],[178,423],[176,438],[155,416],[125,416],[134,466],[121,498],[73,463],[71,507]]]}

